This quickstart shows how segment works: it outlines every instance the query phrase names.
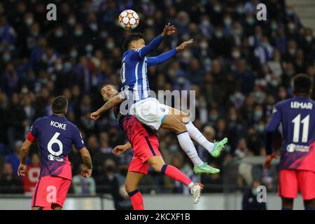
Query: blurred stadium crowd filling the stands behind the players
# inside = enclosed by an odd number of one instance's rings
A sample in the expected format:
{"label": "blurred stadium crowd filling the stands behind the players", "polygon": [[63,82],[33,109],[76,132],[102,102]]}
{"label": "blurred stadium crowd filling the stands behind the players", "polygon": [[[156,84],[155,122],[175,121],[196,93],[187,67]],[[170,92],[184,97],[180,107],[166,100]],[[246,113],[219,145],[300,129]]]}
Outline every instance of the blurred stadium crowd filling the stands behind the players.
{"label": "blurred stadium crowd filling the stands behind the players", "polygon": [[[104,103],[100,86],[120,87],[123,41],[130,34],[118,27],[124,9],[139,13],[140,25],[134,31],[144,33],[146,41],[160,34],[167,22],[176,26],[176,34],[154,54],[194,39],[170,62],[149,68],[150,87],[196,91],[195,126],[211,141],[229,139],[219,159],[197,146],[201,158],[221,170],[233,158],[265,155],[264,130],[272,106],[291,96],[293,75],[315,75],[313,30],[302,26],[284,0],[55,2],[57,21],[46,20],[49,1],[0,2],[0,193],[21,193],[16,170],[22,141],[36,118],[51,114],[52,98],[64,94],[69,99],[67,118],[79,127],[94,163],[92,178],[80,179],[80,156],[73,149],[72,192],[127,198],[117,189],[123,185],[132,151],[120,157],[111,153],[125,143],[125,136],[112,112],[96,123],[89,119]],[[267,21],[256,19],[260,2],[267,6]],[[192,179],[201,178],[205,192],[222,192],[224,170],[194,176],[176,137],[165,130],[159,137],[165,162]],[[38,163],[34,146],[29,164]],[[141,192],[188,193],[179,183],[151,173]],[[272,183],[270,179],[265,178]]]}

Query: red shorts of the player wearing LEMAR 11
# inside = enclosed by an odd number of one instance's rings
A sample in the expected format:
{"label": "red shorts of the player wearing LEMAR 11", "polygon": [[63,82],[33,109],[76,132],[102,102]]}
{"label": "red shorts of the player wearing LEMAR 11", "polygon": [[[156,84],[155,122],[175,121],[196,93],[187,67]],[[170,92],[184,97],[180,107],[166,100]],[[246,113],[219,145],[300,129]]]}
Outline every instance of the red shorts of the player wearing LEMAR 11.
{"label": "red shorts of the player wearing LEMAR 11", "polygon": [[303,200],[315,198],[315,172],[294,169],[281,170],[279,172],[278,195],[295,198],[299,190]]}

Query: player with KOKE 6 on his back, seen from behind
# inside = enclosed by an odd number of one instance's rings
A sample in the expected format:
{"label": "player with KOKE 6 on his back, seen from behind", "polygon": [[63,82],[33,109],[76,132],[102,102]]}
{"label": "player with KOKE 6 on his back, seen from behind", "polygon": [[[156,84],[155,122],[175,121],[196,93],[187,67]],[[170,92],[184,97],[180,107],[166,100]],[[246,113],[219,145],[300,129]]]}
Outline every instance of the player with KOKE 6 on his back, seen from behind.
{"label": "player with KOKE 6 on his back, seen from behind", "polygon": [[66,97],[59,96],[53,99],[51,108],[52,116],[38,118],[31,126],[20,152],[18,175],[25,176],[26,158],[31,144],[37,139],[41,152],[41,173],[31,200],[32,210],[62,209],[71,185],[71,163],[68,155],[72,145],[80,152],[85,165],[81,175],[90,177],[92,174],[90,153],[85,148],[76,125],[66,119],[68,109]]}

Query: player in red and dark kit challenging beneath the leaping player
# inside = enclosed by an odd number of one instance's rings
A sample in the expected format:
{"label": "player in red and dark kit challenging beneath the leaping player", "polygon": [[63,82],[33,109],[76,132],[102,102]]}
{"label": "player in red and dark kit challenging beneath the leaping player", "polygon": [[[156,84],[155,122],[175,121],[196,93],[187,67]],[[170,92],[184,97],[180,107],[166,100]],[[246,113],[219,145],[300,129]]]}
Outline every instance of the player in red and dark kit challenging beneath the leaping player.
{"label": "player in red and dark kit challenging beneath the leaping player", "polygon": [[[117,90],[111,85],[106,85],[108,91],[102,91],[102,97],[107,100],[117,94]],[[114,107],[114,115],[120,128],[125,132],[129,142],[123,146],[116,146],[113,154],[120,155],[129,148],[133,148],[134,157],[128,169],[125,181],[125,190],[130,196],[132,206],[135,210],[144,209],[144,202],[138,190],[139,183],[144,175],[148,174],[148,167],[152,167],[155,172],[161,172],[170,178],[180,181],[190,188],[193,194],[193,201],[196,204],[200,198],[202,190],[201,183],[193,183],[179,169],[172,165],[166,165],[159,151],[159,141],[155,130],[152,127],[143,125],[130,114],[123,115],[120,112],[120,105]]]}

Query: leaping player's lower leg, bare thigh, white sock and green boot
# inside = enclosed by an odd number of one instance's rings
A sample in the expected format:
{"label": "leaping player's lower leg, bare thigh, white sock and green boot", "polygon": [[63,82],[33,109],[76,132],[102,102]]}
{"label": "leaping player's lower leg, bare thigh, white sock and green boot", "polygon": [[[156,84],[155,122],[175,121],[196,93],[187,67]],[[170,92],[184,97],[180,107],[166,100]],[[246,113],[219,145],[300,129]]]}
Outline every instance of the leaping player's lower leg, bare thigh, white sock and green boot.
{"label": "leaping player's lower leg, bare thigh, white sock and green boot", "polygon": [[164,120],[162,120],[161,127],[177,134],[179,145],[181,146],[181,148],[183,148],[183,151],[185,151],[185,153],[194,164],[195,174],[216,174],[220,172],[220,169],[211,167],[200,159],[199,155],[197,154],[197,150],[193,144],[193,141],[191,141],[190,139],[186,126],[181,123],[181,121],[177,119],[171,111],[169,111]]}

